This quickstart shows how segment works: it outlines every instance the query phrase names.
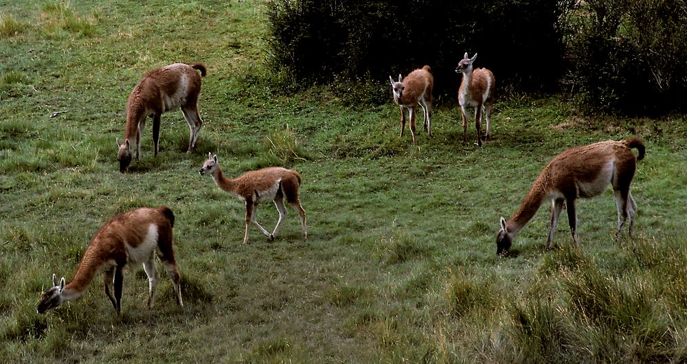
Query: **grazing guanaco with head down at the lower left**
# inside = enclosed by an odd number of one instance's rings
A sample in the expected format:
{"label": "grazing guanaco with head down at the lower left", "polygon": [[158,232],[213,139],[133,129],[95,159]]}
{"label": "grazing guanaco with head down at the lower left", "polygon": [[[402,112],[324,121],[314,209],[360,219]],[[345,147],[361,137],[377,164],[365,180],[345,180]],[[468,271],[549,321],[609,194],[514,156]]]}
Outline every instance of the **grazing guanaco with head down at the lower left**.
{"label": "grazing guanaco with head down at the lower left", "polygon": [[[148,275],[148,308],[152,308],[157,287],[156,253],[172,280],[174,293],[177,294],[177,304],[183,306],[179,272],[172,247],[173,226],[174,214],[165,206],[157,209],[141,207],[115,216],[93,236],[74,278],[69,283],[65,284],[65,277],[58,283],[57,276],[52,275],[52,288],[43,294],[41,302],[38,303],[38,313],[52,310],[63,302],[81,297],[95,274],[102,269],[105,295],[112,302],[117,315],[120,314],[124,267],[137,263],[143,263]],[[113,283],[114,297],[110,292]]]}

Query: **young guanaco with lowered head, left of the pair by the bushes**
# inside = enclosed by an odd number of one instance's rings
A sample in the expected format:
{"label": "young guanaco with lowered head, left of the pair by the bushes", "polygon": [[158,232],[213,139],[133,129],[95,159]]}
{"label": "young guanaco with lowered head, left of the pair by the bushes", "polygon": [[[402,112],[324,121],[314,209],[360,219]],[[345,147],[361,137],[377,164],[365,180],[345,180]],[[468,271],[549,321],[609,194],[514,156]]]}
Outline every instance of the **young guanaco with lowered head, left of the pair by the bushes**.
{"label": "young guanaco with lowered head, left of the pair by the bushes", "polygon": [[398,82],[394,82],[391,76],[389,76],[389,80],[394,93],[394,102],[401,108],[401,137],[403,137],[405,130],[405,111],[407,110],[410,117],[410,133],[413,136],[413,144],[417,144],[415,116],[418,104],[425,113],[423,117],[425,131],[427,136],[431,137],[431,90],[434,87],[434,78],[431,76],[429,66],[408,73],[408,76],[405,76],[403,80],[399,74]]}

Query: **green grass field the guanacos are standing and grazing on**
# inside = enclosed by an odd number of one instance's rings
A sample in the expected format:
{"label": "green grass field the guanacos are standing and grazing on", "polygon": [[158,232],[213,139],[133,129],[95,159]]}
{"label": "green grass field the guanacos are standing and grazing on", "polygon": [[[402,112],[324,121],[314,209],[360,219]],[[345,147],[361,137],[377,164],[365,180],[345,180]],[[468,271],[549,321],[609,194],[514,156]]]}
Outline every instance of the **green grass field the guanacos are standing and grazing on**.
{"label": "green grass field the guanacos are standing and grazing on", "polygon": [[[416,147],[409,130],[398,137],[390,90],[368,106],[354,85],[293,94],[273,82],[266,11],[264,1],[0,2],[1,362],[687,361],[683,115],[590,120],[564,96],[513,95],[477,148],[462,144],[458,108],[440,102],[434,137],[420,132]],[[188,126],[166,113],[160,154],[149,122],[142,160],[120,174],[126,98],[172,62],[207,65],[198,146],[185,153]],[[545,204],[497,258],[499,217],[552,157],[631,135],[647,150],[634,238],[614,242],[607,191],[578,203],[580,249],[563,218],[543,251]],[[289,209],[274,242],[253,227],[242,244],[243,203],[199,176],[208,152],[227,175],[298,170],[307,240]],[[119,317],[100,277],[36,313],[52,274],[69,281],[102,224],[144,205],[177,216],[185,306],[163,276],[148,310],[135,266]],[[277,216],[261,205],[268,229]]]}

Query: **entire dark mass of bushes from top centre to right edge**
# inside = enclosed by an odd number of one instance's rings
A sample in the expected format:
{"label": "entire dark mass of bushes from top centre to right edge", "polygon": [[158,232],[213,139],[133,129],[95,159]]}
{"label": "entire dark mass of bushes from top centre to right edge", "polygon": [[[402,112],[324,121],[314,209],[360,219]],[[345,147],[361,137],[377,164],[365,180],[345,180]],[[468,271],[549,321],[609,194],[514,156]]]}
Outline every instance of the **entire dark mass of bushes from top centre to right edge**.
{"label": "entire dark mass of bushes from top centre to right edge", "polygon": [[[573,93],[587,111],[684,111],[682,0],[280,0],[271,3],[273,67],[297,84],[361,84],[430,65],[455,102],[464,52],[500,93]],[[365,89],[365,94],[375,90]],[[377,89],[373,102],[386,102]]]}

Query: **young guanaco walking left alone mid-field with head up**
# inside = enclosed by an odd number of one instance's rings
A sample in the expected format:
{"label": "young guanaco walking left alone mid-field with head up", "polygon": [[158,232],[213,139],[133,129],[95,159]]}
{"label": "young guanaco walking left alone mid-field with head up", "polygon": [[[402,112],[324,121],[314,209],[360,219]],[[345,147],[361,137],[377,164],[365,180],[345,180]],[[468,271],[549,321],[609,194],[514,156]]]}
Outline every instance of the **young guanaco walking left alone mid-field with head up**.
{"label": "young guanaco walking left alone mid-field with head up", "polygon": [[[203,168],[199,172],[201,176],[206,173],[210,174],[217,187],[245,201],[246,231],[243,236],[244,244],[248,242],[248,228],[251,223],[254,223],[262,231],[262,234],[267,236],[267,240],[274,240],[279,226],[282,225],[284,216],[286,216],[284,198],[300,215],[303,236],[308,238],[305,210],[298,198],[301,178],[300,174],[295,170],[287,170],[281,167],[263,168],[262,170],[245,172],[235,179],[228,179],[224,177],[222,169],[217,163],[217,155],[212,155],[212,153],[208,152],[207,161],[203,163]],[[279,212],[279,220],[271,234],[256,221],[256,210],[258,209],[258,203],[261,201],[274,201],[274,205]]]}

